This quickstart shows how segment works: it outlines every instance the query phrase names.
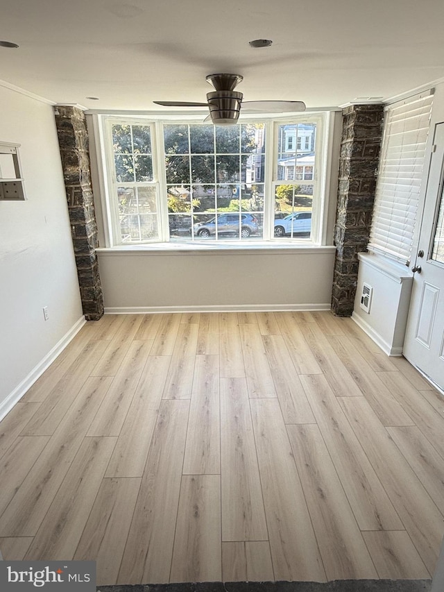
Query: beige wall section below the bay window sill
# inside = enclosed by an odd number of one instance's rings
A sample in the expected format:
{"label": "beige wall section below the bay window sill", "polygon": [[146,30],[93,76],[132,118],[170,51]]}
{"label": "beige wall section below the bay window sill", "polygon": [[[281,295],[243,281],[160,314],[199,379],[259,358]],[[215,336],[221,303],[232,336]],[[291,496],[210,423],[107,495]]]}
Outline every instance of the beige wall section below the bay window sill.
{"label": "beige wall section below the bay window sill", "polygon": [[330,308],[333,266],[334,247],[99,251],[105,312]]}

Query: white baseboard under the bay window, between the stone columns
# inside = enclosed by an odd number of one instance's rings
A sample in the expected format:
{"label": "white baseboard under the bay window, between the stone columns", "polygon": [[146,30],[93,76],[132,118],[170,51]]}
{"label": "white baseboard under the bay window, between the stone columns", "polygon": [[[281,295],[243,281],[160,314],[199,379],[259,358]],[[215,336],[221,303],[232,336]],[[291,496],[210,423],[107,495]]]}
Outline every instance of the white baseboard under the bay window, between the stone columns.
{"label": "white baseboard under the bay window, between the stone columns", "polygon": [[153,314],[167,312],[285,312],[330,310],[330,302],[322,304],[230,304],[191,306],[105,306],[105,314]]}

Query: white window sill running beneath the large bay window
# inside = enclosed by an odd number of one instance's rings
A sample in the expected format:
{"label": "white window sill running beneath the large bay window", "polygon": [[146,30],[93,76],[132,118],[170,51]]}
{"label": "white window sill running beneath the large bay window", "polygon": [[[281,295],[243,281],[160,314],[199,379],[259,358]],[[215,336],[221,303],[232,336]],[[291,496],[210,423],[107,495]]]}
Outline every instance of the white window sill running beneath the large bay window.
{"label": "white window sill running beneath the large bay window", "polygon": [[212,253],[224,255],[226,253],[242,255],[283,255],[288,253],[309,254],[334,253],[334,246],[320,246],[316,244],[289,244],[288,242],[255,242],[254,244],[239,244],[234,242],[196,244],[196,243],[151,243],[137,245],[119,245],[113,247],[99,247],[96,252],[100,255],[191,255],[191,253]]}

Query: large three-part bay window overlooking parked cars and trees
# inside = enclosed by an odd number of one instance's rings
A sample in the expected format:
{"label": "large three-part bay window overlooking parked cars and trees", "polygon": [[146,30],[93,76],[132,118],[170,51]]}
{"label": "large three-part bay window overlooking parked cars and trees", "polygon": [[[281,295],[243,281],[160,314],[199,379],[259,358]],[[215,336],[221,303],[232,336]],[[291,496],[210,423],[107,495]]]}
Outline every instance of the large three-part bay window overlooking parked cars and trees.
{"label": "large three-part bay window overlooking parked cars and trees", "polygon": [[318,242],[322,114],[234,126],[96,117],[106,246]]}

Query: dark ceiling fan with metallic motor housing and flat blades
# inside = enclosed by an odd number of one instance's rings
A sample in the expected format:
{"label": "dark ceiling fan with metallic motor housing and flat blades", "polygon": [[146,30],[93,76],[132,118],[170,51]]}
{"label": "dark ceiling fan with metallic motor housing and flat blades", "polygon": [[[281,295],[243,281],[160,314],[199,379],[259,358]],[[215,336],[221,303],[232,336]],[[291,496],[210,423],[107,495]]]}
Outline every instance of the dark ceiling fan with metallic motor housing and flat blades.
{"label": "dark ceiling fan with metallic motor housing and flat blades", "polygon": [[242,108],[258,112],[296,112],[305,111],[302,101],[242,101],[244,94],[234,88],[244,80],[240,74],[209,74],[207,83],[214,86],[214,92],[207,93],[207,103],[189,103],[187,101],[154,101],[164,107],[208,107],[210,115],[205,121],[212,121],[218,126],[230,126],[237,123]]}

